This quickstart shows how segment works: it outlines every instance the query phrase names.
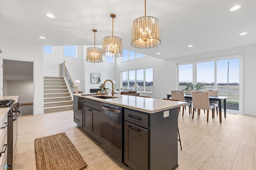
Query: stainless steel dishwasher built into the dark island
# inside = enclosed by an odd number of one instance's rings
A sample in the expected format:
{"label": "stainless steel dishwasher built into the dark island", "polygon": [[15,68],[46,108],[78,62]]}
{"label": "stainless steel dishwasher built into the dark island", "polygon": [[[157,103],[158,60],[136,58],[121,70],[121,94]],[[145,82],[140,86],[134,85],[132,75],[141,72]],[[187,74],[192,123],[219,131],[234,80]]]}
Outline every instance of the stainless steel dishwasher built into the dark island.
{"label": "stainless steel dishwasher built into the dark island", "polygon": [[122,107],[101,103],[101,146],[122,161]]}

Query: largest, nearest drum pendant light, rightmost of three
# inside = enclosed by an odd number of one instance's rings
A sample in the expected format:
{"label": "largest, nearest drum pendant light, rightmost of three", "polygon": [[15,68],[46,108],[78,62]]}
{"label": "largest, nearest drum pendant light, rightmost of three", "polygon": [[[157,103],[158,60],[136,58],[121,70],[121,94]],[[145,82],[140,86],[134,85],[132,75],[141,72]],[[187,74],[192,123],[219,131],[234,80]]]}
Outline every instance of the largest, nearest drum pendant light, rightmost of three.
{"label": "largest, nearest drum pendant light, rightmost of three", "polygon": [[158,19],[152,16],[137,18],[132,24],[132,43],[136,48],[152,48],[161,43]]}

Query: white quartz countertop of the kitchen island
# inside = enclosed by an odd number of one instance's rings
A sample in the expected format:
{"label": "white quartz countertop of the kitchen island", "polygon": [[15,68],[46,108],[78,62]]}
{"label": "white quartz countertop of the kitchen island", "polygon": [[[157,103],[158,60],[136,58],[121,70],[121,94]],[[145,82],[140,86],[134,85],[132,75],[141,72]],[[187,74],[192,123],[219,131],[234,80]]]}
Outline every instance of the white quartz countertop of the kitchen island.
{"label": "white quartz countertop of the kitchen island", "polygon": [[[114,95],[117,98],[111,99],[100,99],[93,97],[93,95],[82,96],[81,94],[74,94],[74,96],[83,97],[85,99],[91,99],[94,101],[104,102],[112,105],[117,105],[120,107],[125,107],[129,109],[134,109],[137,111],[142,111],[146,113],[157,113],[160,111],[165,111],[175,107],[183,106],[186,103],[180,101],[170,101],[162,99],[154,99],[147,97],[129,96],[129,95]],[[111,96],[105,95],[105,96]]]}

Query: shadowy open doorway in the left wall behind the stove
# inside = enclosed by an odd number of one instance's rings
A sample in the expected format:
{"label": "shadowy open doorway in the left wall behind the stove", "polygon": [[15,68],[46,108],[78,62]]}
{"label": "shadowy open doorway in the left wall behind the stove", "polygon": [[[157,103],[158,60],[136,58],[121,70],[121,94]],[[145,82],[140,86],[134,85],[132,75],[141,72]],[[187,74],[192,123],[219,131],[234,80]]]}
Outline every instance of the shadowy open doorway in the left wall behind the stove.
{"label": "shadowy open doorway in the left wall behind the stove", "polygon": [[3,96],[19,96],[22,115],[33,115],[33,62],[3,59]]}

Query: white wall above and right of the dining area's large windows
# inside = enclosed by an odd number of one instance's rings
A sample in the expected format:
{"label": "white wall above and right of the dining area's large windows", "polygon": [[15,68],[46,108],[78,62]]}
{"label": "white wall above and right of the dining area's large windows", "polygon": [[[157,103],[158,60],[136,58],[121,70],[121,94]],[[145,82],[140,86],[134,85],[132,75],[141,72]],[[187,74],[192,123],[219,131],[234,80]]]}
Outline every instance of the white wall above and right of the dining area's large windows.
{"label": "white wall above and right of the dining area's large windows", "polygon": [[254,108],[254,96],[256,95],[256,91],[254,90],[256,72],[255,49],[256,44],[252,44],[242,47],[234,47],[208,53],[179,57],[176,59],[171,59],[170,61],[175,63],[185,63],[202,59],[242,55],[242,92],[240,92],[240,94],[242,94],[242,114],[256,116],[256,111]]}

